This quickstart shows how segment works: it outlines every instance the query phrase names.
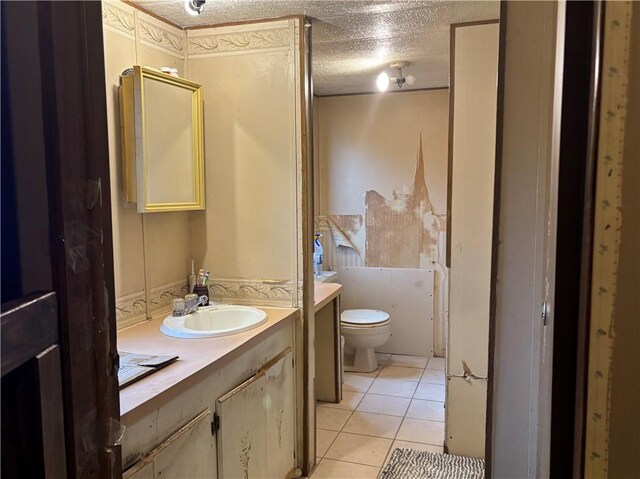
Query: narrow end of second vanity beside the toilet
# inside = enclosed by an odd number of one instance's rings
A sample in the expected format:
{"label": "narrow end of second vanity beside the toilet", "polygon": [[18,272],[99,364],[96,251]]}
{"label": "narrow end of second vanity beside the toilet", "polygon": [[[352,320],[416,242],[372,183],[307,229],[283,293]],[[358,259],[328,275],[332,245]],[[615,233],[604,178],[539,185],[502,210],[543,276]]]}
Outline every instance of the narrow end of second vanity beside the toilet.
{"label": "narrow end of second vanity beside the toilet", "polygon": [[340,338],[340,291],[337,283],[314,284],[316,399],[342,401],[342,348]]}

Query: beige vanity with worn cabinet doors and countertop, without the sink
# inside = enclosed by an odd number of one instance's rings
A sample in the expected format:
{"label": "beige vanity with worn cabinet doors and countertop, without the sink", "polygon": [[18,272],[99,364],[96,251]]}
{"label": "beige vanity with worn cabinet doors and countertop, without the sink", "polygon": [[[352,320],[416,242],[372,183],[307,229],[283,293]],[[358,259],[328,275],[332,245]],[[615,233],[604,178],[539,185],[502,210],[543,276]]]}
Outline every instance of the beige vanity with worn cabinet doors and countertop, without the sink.
{"label": "beige vanity with worn cabinet doors and countertop, without the sink", "polygon": [[299,310],[206,339],[163,335],[162,318],[122,330],[121,350],[178,355],[120,391],[125,478],[286,477],[295,470],[294,324]]}

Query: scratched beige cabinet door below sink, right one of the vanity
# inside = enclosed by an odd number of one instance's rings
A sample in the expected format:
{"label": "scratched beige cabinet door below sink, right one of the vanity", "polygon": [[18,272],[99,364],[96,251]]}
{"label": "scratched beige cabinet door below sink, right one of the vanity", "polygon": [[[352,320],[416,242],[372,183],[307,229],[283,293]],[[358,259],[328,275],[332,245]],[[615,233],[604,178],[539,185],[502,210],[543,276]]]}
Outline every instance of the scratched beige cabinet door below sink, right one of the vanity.
{"label": "scratched beige cabinet door below sink, right one of the vanity", "polygon": [[216,401],[218,477],[282,479],[294,468],[291,348]]}

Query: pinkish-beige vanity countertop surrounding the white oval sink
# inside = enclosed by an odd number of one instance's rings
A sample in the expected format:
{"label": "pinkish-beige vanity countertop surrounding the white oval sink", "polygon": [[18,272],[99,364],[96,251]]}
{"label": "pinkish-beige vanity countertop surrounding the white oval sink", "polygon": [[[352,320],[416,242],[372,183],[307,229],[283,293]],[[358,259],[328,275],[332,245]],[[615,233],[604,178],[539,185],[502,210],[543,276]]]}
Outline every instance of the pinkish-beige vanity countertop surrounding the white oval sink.
{"label": "pinkish-beige vanity countertop surrounding the white oval sink", "polygon": [[120,390],[120,415],[138,416],[148,409],[150,401],[177,388],[200,371],[217,369],[231,358],[234,351],[246,350],[259,342],[264,333],[285,325],[298,314],[295,308],[259,308],[267,313],[267,322],[243,333],[219,338],[177,339],[160,332],[164,318],[152,319],[118,331],[118,350],[158,356],[177,355],[179,359],[140,381]]}

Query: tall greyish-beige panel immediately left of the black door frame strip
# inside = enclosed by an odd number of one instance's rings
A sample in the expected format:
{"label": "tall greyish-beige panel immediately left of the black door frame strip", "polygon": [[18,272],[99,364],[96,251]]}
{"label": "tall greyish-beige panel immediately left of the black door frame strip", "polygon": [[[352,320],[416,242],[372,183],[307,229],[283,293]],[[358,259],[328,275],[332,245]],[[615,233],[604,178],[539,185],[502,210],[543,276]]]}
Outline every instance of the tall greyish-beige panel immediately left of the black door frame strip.
{"label": "tall greyish-beige panel immediately left of the black door frame strip", "polygon": [[[486,471],[489,477],[542,477],[551,424],[565,3],[503,1],[500,23]],[[537,68],[524,73],[518,57]],[[529,94],[537,101],[527,104],[522,97]],[[518,148],[528,159],[515,154]],[[529,203],[517,209],[522,195]],[[520,434],[505,450],[509,428]]]}

